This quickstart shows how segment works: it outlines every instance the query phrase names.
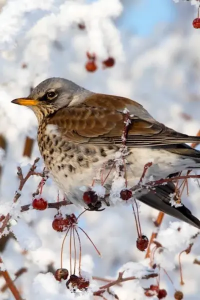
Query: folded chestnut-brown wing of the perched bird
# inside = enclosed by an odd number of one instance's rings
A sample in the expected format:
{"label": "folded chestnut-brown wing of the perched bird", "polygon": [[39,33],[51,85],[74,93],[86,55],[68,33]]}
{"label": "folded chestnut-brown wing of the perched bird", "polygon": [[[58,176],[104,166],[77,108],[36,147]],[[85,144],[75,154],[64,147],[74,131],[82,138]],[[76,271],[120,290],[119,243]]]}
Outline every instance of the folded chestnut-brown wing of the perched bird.
{"label": "folded chestnut-brown wing of the perched bird", "polygon": [[56,125],[61,135],[72,142],[120,145],[126,117],[123,113],[124,108],[131,114],[127,146],[196,141],[196,137],[189,137],[157,122],[137,102],[104,94],[94,94],[80,105],[59,109],[49,117],[47,123]]}

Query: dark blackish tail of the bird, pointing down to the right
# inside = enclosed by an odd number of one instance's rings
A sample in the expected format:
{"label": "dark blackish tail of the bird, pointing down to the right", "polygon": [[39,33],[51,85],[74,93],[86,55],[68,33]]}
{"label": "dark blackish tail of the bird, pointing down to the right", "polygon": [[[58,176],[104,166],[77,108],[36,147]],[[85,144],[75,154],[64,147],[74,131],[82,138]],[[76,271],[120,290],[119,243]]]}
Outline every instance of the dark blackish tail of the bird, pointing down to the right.
{"label": "dark blackish tail of the bird, pointing down to the right", "polygon": [[173,194],[174,192],[175,185],[173,182],[168,182],[165,185],[156,186],[155,189],[139,196],[138,200],[149,205],[150,207],[163,211],[166,214],[174,216],[175,218],[178,218],[181,221],[200,229],[200,221],[187,207],[185,207],[183,204],[179,207],[171,206],[170,194]]}

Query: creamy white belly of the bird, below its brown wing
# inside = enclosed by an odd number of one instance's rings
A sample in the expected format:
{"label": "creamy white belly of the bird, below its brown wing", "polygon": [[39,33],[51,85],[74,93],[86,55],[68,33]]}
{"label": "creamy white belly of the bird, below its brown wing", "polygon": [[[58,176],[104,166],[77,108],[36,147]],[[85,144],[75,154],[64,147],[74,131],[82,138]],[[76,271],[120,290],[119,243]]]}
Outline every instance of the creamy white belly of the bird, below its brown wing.
{"label": "creamy white belly of the bird, below its brown wing", "polygon": [[[95,177],[97,170],[102,166],[104,161],[113,159],[114,154],[111,153],[106,157],[102,158],[101,161],[92,164],[92,167],[84,169],[77,169],[75,173],[65,177],[64,170],[54,172],[52,169],[52,176],[57,182],[59,188],[65,193],[67,199],[74,204],[83,204],[82,187],[89,187],[92,184],[93,178]],[[197,166],[196,162],[191,158],[182,158],[179,155],[170,153],[166,150],[157,150],[150,148],[134,148],[132,153],[126,157],[128,165],[126,166],[127,173],[127,184],[128,187],[132,187],[138,182],[143,172],[143,167],[147,162],[152,162],[152,165],[148,168],[145,176],[145,181],[157,180],[165,178],[170,173],[179,172],[187,169],[188,167]],[[108,170],[104,172],[104,177],[108,173]],[[110,172],[106,180],[106,184],[111,185],[114,168]],[[96,180],[99,184],[100,180]]]}

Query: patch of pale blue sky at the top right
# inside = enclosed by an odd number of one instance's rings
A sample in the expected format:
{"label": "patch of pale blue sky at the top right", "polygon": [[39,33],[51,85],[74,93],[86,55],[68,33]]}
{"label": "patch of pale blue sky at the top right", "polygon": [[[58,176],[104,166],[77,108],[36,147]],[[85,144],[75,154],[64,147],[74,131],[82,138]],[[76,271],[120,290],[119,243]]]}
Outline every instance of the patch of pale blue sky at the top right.
{"label": "patch of pale blue sky at the top right", "polygon": [[124,7],[120,25],[139,35],[148,35],[154,26],[170,22],[174,18],[173,0],[139,0],[137,4]]}

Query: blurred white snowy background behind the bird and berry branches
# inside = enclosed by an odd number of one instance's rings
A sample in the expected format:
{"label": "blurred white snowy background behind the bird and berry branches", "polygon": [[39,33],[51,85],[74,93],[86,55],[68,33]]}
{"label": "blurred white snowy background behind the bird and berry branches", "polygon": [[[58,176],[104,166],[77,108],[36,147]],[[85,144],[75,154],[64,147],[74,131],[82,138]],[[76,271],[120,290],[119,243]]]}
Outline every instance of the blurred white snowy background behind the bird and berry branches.
{"label": "blurred white snowy background behind the bird and berry branches", "polygon": [[[141,0],[140,0],[141,1]],[[0,134],[7,143],[6,152],[0,152],[2,176],[0,177],[0,214],[10,211],[18,187],[16,166],[24,172],[27,164],[39,156],[35,142],[31,158],[23,157],[26,136],[36,137],[36,118],[25,107],[11,104],[13,98],[26,96],[32,86],[41,80],[60,76],[96,92],[117,94],[140,102],[157,120],[187,134],[195,135],[200,127],[200,29],[192,27],[197,15],[196,5],[179,0],[168,0],[173,18],[159,20],[149,34],[139,35],[127,29],[123,22],[128,12],[134,12],[138,1],[132,0],[1,0],[0,12]],[[156,1],[142,0],[150,5],[149,14],[156,11]],[[146,2],[146,3],[145,3]],[[165,0],[166,2],[166,0]],[[196,1],[191,1],[196,4]],[[154,7],[152,7],[154,5]],[[158,10],[159,11],[159,10]],[[157,12],[159,13],[159,12]],[[143,19],[142,19],[143,18]],[[145,26],[146,16],[140,11],[140,22]],[[85,23],[80,30],[78,23]],[[86,51],[95,52],[98,69],[85,70]],[[114,67],[102,69],[101,61],[110,56],[116,60]],[[27,67],[22,67],[26,64]],[[145,162],[144,162],[145,163]],[[30,179],[22,190],[19,204],[31,203],[31,192],[36,189],[38,178]],[[57,189],[48,180],[42,194],[49,202],[56,201]],[[189,197],[183,202],[200,217],[199,188],[190,184]],[[148,236],[154,228],[153,219],[158,211],[140,204],[142,232]],[[9,238],[1,247],[0,256],[10,274],[21,267],[27,272],[16,281],[23,298],[27,300],[93,299],[91,291],[70,293],[64,282],[58,283],[48,271],[52,264],[60,267],[60,247],[64,233],[52,229],[55,209],[29,210],[17,219],[17,207],[12,209],[11,230],[17,241]],[[81,211],[70,205],[63,211]],[[17,223],[16,221],[17,220]],[[98,257],[90,242],[81,234],[82,269],[90,275],[116,278],[124,275],[146,273],[149,261],[145,253],[136,249],[136,229],[131,207],[106,208],[102,212],[86,212],[79,224],[89,234],[102,257]],[[177,231],[181,227],[181,231]],[[164,216],[157,240],[166,248],[155,255],[168,271],[176,289],[181,289],[185,300],[197,300],[200,294],[200,266],[193,264],[200,258],[200,240],[196,238],[191,253],[182,254],[185,284],[179,285],[178,253],[189,244],[197,230]],[[1,243],[1,240],[0,240]],[[25,253],[23,250],[27,250]],[[128,263],[128,264],[127,264]],[[63,267],[69,268],[68,241],[63,252]],[[14,277],[13,277],[14,278]],[[120,300],[142,300],[142,287],[155,283],[155,279],[127,281],[112,290]],[[0,276],[0,287],[4,279]],[[91,281],[97,289],[102,282]],[[167,299],[173,299],[174,287],[160,273],[160,287],[167,290]],[[106,294],[106,299],[113,296]],[[0,299],[13,299],[6,289]],[[102,299],[96,297],[96,299]],[[156,299],[156,296],[152,297]]]}

